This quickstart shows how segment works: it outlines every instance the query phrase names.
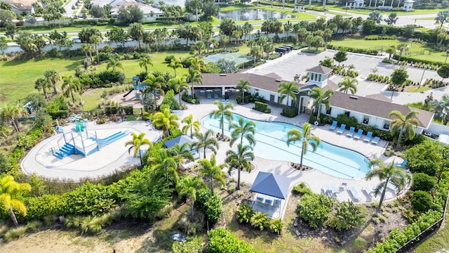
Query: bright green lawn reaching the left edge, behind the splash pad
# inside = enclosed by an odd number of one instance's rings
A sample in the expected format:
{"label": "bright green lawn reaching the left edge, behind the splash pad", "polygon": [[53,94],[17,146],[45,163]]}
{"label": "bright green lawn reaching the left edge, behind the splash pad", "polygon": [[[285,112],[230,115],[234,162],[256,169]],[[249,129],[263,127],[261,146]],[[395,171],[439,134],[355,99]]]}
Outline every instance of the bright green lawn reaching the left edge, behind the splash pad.
{"label": "bright green lawn reaching the left edge, behind the splash pad", "polygon": [[34,89],[34,81],[43,77],[43,71],[55,69],[61,76],[73,74],[81,66],[83,58],[45,58],[34,60],[11,60],[0,63],[0,106],[8,101],[25,98],[29,93],[39,93]]}

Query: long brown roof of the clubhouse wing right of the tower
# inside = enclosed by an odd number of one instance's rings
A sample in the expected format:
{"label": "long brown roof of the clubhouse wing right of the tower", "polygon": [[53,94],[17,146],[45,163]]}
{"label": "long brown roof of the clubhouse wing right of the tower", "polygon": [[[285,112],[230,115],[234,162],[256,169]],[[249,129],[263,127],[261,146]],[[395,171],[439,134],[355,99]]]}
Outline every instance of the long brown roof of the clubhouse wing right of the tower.
{"label": "long brown roof of the clubhouse wing right of the tower", "polygon": [[332,107],[342,108],[344,110],[360,112],[366,115],[372,115],[383,119],[389,119],[388,115],[393,110],[398,110],[403,115],[410,111],[417,111],[416,115],[418,126],[427,129],[434,118],[434,113],[417,108],[411,108],[406,105],[398,105],[390,101],[376,100],[368,97],[354,96],[348,93],[335,92],[330,97],[330,105]]}

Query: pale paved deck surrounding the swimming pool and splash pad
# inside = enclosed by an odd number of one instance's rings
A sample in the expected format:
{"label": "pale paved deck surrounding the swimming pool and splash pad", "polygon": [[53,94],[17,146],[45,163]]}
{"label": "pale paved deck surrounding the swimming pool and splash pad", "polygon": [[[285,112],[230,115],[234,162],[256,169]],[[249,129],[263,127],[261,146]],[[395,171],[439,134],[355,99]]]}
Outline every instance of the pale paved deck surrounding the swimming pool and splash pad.
{"label": "pale paved deck surrounding the swimming pool and splash pad", "polygon": [[[207,116],[211,111],[215,110],[216,106],[213,105],[213,99],[202,99],[200,105],[188,105],[188,110],[178,111],[177,114],[180,115],[180,119],[192,114],[194,119],[201,120],[203,117]],[[253,104],[248,105],[236,105],[235,99],[231,99],[231,103],[234,103],[233,112],[248,117],[250,119],[258,120],[271,120],[273,122],[286,122],[294,124],[296,126],[302,126],[304,122],[307,121],[309,115],[298,115],[294,118],[283,117],[280,115],[281,108],[273,108],[271,114],[265,114],[262,112],[257,112],[252,110]],[[64,127],[65,131],[73,131],[74,124],[69,124]],[[361,140],[356,141],[354,138],[349,138],[346,134],[337,134],[336,131],[330,131],[329,125],[326,126],[313,126],[312,134],[319,136],[322,141],[328,143],[339,145],[343,148],[348,148],[355,150],[358,153],[365,155],[368,158],[378,157],[384,162],[402,162],[399,157],[384,157],[382,155],[384,148],[387,147],[386,141],[380,141],[378,145],[373,145],[363,141],[364,136]],[[136,133],[144,132],[146,138],[150,141],[158,138],[161,131],[156,131],[152,129],[152,126],[145,122],[119,122],[119,123],[109,123],[109,124],[95,124],[89,122],[88,131],[97,131],[99,138],[105,138],[106,136],[112,135],[117,131],[133,131]],[[201,126],[200,131],[206,131],[206,129]],[[75,133],[76,134],[76,133]],[[42,141],[36,145],[32,150],[27,153],[25,158],[22,160],[22,169],[26,174],[36,173],[40,176],[45,176],[51,179],[71,179],[73,181],[79,181],[84,178],[96,178],[100,176],[106,176],[114,173],[116,170],[120,170],[123,167],[130,166],[132,164],[140,164],[139,158],[133,157],[133,155],[128,154],[128,148],[125,147],[125,142],[130,140],[130,136],[123,137],[112,144],[107,145],[100,151],[89,155],[88,157],[82,157],[81,155],[70,155],[60,160],[59,158],[51,154],[50,149],[58,148],[58,138],[61,138],[62,134],[57,134],[46,140]],[[220,141],[220,149],[217,153],[217,163],[223,163],[225,160],[225,153],[229,150],[229,143],[224,143]],[[145,148],[145,147],[144,147]],[[233,149],[236,148],[234,145]],[[372,202],[375,200],[372,196],[365,194],[362,191],[363,187],[373,188],[379,183],[377,179],[372,179],[366,181],[365,179],[340,179],[335,176],[330,176],[323,173],[317,169],[311,171],[299,171],[297,169],[292,169],[288,166],[288,162],[280,162],[274,160],[266,160],[261,157],[257,157],[255,154],[255,160],[253,164],[255,169],[248,172],[241,173],[241,180],[246,183],[253,183],[258,171],[272,172],[275,174],[280,174],[291,179],[290,189],[298,183],[305,182],[311,188],[314,193],[325,193],[323,192],[323,186],[335,186],[339,188],[342,183],[347,184],[347,188],[342,188],[340,193],[334,194],[333,196],[338,200],[354,200],[349,194],[349,189],[354,186],[358,191],[359,200],[354,202]],[[206,153],[207,157],[210,157],[210,152]],[[201,155],[202,157],[202,155]],[[236,171],[232,171],[232,177],[236,178]],[[327,192],[328,195],[332,194]],[[394,193],[387,190],[386,200],[391,200],[394,198]],[[284,208],[278,210],[278,214],[283,216],[285,212]],[[277,215],[277,214],[276,214]]]}

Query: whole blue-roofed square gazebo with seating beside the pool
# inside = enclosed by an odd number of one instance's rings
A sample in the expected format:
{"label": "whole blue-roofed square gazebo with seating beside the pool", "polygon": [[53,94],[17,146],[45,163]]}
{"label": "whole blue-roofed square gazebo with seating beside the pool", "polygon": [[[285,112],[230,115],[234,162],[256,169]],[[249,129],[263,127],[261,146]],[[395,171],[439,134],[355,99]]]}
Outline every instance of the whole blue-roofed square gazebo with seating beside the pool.
{"label": "whole blue-roofed square gazebo with seating beside the pool", "polygon": [[253,209],[282,219],[290,183],[285,176],[259,171],[250,188],[250,192],[257,193],[253,197]]}

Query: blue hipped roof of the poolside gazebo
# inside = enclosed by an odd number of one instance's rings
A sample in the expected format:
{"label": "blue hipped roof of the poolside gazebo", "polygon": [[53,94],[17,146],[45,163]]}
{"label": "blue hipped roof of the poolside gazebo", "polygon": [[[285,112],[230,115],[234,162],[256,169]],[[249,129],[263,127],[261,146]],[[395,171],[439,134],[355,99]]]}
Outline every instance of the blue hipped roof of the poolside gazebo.
{"label": "blue hipped roof of the poolside gazebo", "polygon": [[278,174],[259,171],[250,191],[285,200],[290,188],[290,179]]}

